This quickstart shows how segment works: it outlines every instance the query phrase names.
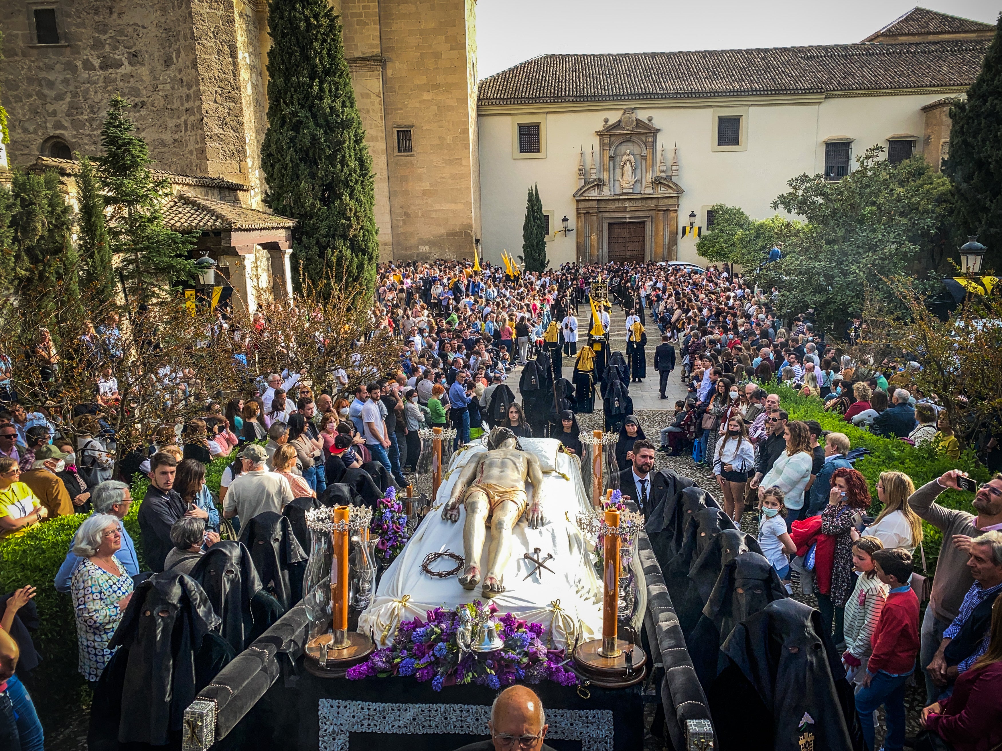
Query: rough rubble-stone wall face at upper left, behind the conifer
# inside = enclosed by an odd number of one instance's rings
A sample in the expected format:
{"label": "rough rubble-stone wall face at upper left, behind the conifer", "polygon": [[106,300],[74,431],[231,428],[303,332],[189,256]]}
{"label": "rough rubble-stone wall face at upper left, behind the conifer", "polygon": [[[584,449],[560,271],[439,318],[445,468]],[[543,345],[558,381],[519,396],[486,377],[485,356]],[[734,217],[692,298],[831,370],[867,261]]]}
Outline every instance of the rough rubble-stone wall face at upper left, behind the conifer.
{"label": "rough rubble-stone wall face at upper left, behind the conifer", "polygon": [[156,166],[204,174],[201,94],[188,0],[150,3],[60,0],[60,45],[34,45],[25,3],[4,3],[0,28],[3,103],[13,164],[28,164],[52,136],[71,149],[100,151],[108,100],[132,103],[136,130]]}

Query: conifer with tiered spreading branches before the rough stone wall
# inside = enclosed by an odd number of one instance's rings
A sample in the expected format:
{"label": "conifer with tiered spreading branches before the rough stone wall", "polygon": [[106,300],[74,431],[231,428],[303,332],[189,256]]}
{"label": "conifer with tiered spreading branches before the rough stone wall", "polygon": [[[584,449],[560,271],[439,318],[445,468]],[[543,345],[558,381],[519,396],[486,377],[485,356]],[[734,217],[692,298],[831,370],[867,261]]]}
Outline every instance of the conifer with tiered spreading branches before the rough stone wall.
{"label": "conifer with tiered spreading branches before the rough stone wall", "polygon": [[119,95],[111,99],[101,128],[104,156],[97,163],[97,181],[104,204],[111,211],[107,222],[111,257],[125,281],[129,302],[155,298],[165,284],[194,276],[194,262],[187,257],[194,238],[167,229],[160,205],[170,194],[166,180],[149,169],[146,142],[135,135],[135,124]]}

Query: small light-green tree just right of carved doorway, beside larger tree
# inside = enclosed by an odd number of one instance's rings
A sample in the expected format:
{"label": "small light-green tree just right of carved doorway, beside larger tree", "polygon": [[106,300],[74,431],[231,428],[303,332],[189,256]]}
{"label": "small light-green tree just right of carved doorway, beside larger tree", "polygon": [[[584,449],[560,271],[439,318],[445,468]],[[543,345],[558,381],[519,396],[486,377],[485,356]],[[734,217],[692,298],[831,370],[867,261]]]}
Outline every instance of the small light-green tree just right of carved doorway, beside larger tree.
{"label": "small light-green tree just right of carved doorway, beside larger tree", "polygon": [[765,262],[777,243],[789,242],[802,231],[800,222],[780,215],[757,221],[737,206],[715,204],[713,226],[696,242],[696,252],[715,262],[737,263],[753,271]]}

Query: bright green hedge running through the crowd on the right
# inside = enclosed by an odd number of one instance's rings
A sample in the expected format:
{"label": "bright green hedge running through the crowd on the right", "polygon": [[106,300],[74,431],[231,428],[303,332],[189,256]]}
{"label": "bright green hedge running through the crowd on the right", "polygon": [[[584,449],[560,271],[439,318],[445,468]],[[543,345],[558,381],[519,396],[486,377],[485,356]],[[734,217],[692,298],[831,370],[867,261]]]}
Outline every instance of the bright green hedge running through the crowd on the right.
{"label": "bright green hedge running through the crowd on the right", "polygon": [[[857,428],[842,419],[841,415],[825,412],[821,400],[816,397],[803,397],[793,389],[781,387],[771,389],[771,393],[780,396],[781,407],[790,414],[791,420],[816,420],[826,431],[844,433],[849,437],[853,449],[868,449],[870,454],[857,460],[855,467],[867,479],[870,485],[870,495],[874,500],[871,513],[880,513],[883,508],[877,501],[877,481],[881,473],[897,470],[908,475],[915,487],[919,488],[931,480],[935,480],[947,470],[963,470],[972,478],[986,482],[991,473],[978,463],[973,450],[968,449],[960,455],[960,459],[952,460],[945,454],[938,453],[931,444],[914,447],[898,439],[888,439],[875,436],[869,431]],[[947,491],[937,503],[949,509],[961,509],[970,514],[976,514],[971,506],[973,493],[965,491]],[[935,527],[923,522],[923,547],[926,552],[928,573],[936,569],[936,559],[939,557],[943,536]],[[921,560],[916,561],[916,570],[922,570]]]}

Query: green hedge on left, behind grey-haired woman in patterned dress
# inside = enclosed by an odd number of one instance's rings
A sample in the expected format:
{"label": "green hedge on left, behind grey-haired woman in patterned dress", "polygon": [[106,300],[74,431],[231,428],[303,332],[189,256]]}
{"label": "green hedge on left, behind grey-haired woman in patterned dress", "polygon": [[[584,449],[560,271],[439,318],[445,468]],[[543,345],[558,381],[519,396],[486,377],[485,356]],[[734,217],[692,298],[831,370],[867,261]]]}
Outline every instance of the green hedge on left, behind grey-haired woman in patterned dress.
{"label": "green hedge on left, behind grey-haired woman in patterned dress", "polygon": [[[231,460],[215,459],[206,468],[205,482],[218,492],[222,471]],[[137,477],[132,483],[132,506],[125,516],[125,529],[135,544],[140,567],[144,565],[142,538],[139,534],[139,506],[149,487],[149,480]],[[35,706],[43,723],[58,722],[64,702],[81,701],[84,688],[77,673],[76,621],[69,595],[55,591],[53,580],[66,559],[70,541],[86,516],[57,517],[23,532],[0,539],[0,593],[11,592],[27,584],[38,588],[35,604],[40,625],[32,636],[42,663],[32,676],[32,688],[45,701]]]}

